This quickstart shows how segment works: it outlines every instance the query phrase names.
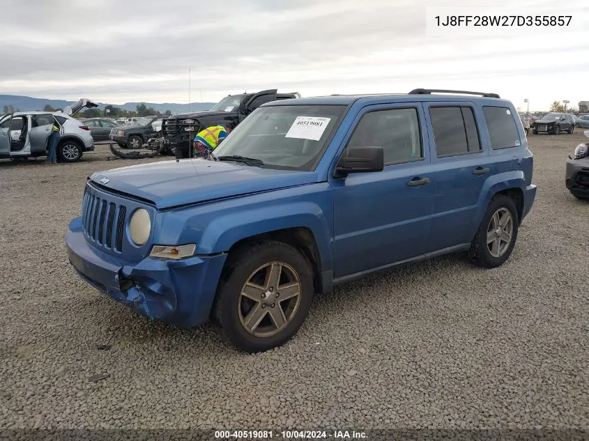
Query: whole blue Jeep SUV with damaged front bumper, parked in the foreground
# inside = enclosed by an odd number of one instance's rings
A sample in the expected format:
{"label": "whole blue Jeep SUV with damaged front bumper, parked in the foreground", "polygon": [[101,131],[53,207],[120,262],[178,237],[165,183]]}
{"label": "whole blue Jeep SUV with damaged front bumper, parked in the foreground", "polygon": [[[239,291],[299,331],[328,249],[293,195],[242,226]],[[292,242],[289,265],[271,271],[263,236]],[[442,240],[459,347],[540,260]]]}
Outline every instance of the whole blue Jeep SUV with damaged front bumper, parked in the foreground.
{"label": "whole blue Jeep SUV with damaged front bumper, parked in the foreground", "polygon": [[270,102],[209,160],[90,176],[68,256],[151,320],[213,318],[258,352],[289,340],[336,284],[458,251],[501,265],[532,208],[532,173],[517,111],[496,94]]}

